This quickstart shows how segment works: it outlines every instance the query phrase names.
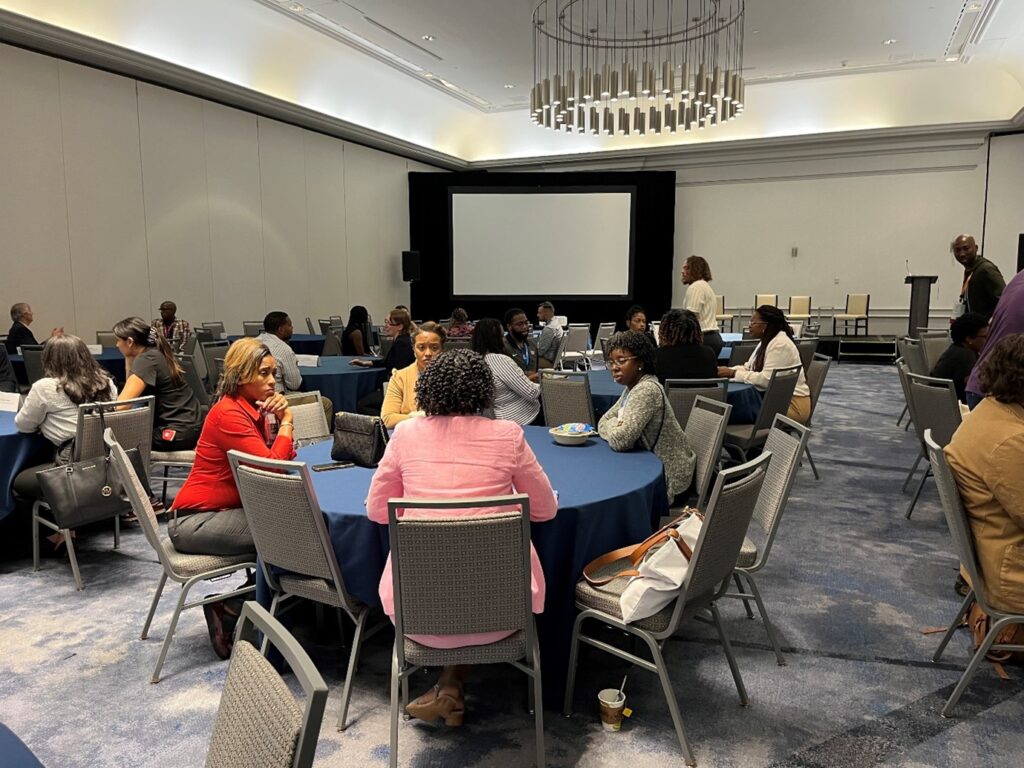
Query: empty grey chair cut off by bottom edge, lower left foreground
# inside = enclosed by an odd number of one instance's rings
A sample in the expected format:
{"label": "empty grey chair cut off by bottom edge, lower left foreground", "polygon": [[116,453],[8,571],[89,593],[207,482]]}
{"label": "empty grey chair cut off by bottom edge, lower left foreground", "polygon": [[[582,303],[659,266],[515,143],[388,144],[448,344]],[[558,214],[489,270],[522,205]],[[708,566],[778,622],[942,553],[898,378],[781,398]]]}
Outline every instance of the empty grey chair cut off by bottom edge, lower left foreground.
{"label": "empty grey chair cut off by bottom edge, lower left foreground", "polygon": [[[257,632],[284,656],[303,698],[296,698],[246,639]],[[327,683],[298,641],[257,603],[242,606],[234,636],[206,765],[311,768],[327,708]]]}

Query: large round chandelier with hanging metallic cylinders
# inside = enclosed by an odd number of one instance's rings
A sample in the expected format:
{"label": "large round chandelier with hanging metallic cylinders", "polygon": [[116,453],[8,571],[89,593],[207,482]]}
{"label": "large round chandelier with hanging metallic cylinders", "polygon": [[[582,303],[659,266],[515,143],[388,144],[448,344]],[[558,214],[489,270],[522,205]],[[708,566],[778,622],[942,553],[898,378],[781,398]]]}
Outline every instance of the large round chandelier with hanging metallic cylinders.
{"label": "large round chandelier with hanging metallic cylinders", "polygon": [[675,133],[743,113],[745,0],[540,0],[530,120]]}

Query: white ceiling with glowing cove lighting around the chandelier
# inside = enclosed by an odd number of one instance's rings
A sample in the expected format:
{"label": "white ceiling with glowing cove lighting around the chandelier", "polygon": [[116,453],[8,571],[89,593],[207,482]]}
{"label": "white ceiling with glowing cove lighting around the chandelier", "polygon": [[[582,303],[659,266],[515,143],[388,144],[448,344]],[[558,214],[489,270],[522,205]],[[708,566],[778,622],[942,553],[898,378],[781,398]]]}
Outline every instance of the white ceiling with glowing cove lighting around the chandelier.
{"label": "white ceiling with glowing cove lighting around the chandelier", "polygon": [[[529,123],[534,5],[0,0],[0,40],[22,42],[3,35],[12,19],[52,26],[234,89],[220,100],[262,111],[233,96],[269,97],[294,108],[300,124],[453,167],[1020,125],[1024,0],[746,0],[742,118],[689,134],[625,137],[562,135]],[[71,47],[73,58],[84,48]],[[148,79],[161,82],[159,73]]]}

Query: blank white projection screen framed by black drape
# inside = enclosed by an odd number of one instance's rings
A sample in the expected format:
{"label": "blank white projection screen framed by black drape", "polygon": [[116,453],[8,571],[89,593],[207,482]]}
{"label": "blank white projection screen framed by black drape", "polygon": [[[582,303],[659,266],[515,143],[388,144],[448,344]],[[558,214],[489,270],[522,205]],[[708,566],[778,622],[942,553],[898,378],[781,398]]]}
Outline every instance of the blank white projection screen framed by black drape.
{"label": "blank white projection screen framed by black drape", "polygon": [[629,296],[632,203],[629,190],[453,190],[453,297]]}

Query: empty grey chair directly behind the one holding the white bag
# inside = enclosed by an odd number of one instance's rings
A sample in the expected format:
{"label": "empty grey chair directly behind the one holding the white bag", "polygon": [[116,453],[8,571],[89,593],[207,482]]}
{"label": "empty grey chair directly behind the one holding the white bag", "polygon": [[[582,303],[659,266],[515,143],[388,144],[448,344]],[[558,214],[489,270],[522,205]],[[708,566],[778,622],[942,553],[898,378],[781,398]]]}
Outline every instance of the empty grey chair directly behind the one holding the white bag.
{"label": "empty grey chair directly behind the one holding the white bag", "polygon": [[[785,666],[785,657],[782,655],[775,630],[768,620],[768,611],[765,608],[758,585],[754,581],[754,574],[768,562],[768,555],[771,554],[772,544],[775,542],[779,524],[782,522],[782,512],[785,511],[785,505],[790,500],[794,478],[796,478],[797,470],[800,468],[800,457],[807,447],[810,434],[810,429],[781,414],[776,416],[775,421],[772,422],[768,439],[765,440],[765,451],[771,454],[771,463],[768,465],[764,485],[761,486],[757,504],[754,506],[754,519],[751,528],[743,538],[743,546],[736,559],[736,568],[732,571],[736,591],[725,594],[725,597],[733,597],[743,601],[749,618],[754,617],[754,612],[751,610],[751,600],[753,599],[757,603],[758,612],[761,614],[765,632],[768,634],[768,640],[775,651],[775,660],[780,667]],[[751,538],[752,532],[754,532],[753,539]],[[750,587],[750,592],[743,589],[744,582]]]}

